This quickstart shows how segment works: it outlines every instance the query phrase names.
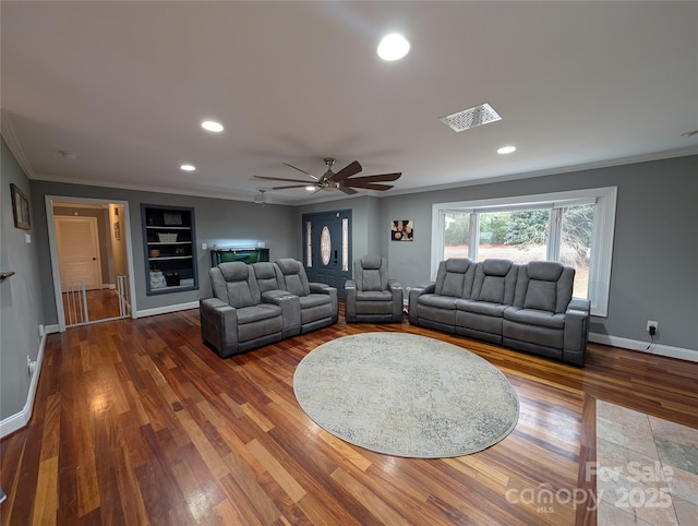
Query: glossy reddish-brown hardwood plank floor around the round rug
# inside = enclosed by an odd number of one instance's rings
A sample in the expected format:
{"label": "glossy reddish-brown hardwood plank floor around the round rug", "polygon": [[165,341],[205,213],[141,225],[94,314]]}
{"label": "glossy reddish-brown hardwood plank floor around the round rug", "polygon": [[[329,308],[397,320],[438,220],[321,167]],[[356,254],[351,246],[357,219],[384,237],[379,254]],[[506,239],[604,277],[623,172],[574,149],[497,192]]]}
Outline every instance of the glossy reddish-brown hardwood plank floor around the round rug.
{"label": "glossy reddish-brown hardwood plank floor around the round rug", "polygon": [[[294,368],[366,331],[490,360],[519,395],[516,430],[444,459],[328,434],[298,406]],[[32,420],[1,442],[2,524],[595,524],[587,502],[530,498],[594,487],[594,398],[696,428],[698,363],[590,344],[577,369],[407,321],[340,321],[228,360],[201,343],[198,310],[75,327],[48,337]]]}

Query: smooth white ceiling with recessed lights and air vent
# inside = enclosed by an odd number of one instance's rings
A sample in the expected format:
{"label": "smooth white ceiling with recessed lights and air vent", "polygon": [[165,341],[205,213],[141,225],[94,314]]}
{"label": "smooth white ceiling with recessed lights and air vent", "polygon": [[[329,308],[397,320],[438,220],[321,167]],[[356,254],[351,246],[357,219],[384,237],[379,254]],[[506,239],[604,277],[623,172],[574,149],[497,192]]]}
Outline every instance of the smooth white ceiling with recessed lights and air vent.
{"label": "smooth white ceiling with recessed lights and air vent", "polygon": [[[34,179],[252,201],[253,176],[333,156],[402,171],[390,195],[698,153],[698,2],[3,0],[1,24],[3,131]],[[411,51],[383,62],[394,31]],[[438,120],[481,103],[503,120]]]}

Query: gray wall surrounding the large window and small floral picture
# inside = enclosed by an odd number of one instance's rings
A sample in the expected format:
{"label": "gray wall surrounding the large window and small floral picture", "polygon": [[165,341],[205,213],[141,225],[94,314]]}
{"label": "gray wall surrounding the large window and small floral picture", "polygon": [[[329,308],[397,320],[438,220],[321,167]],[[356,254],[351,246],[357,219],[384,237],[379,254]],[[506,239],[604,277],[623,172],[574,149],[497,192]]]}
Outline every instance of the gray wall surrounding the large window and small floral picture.
{"label": "gray wall surrounding the large window and small floral picture", "polygon": [[469,186],[382,201],[381,225],[414,219],[412,243],[392,242],[385,255],[404,287],[429,280],[432,205],[455,201],[617,187],[607,318],[591,331],[698,350],[698,156]]}

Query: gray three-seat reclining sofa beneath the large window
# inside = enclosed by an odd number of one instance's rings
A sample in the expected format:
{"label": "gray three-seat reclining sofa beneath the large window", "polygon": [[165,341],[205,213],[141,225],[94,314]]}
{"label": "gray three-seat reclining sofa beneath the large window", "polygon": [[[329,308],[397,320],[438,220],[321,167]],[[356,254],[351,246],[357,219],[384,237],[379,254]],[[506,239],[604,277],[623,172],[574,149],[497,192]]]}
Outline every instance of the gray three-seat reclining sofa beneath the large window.
{"label": "gray three-seat reclining sofa beneath the large window", "polygon": [[409,294],[409,321],[583,366],[591,304],[573,298],[575,270],[552,261],[442,261]]}

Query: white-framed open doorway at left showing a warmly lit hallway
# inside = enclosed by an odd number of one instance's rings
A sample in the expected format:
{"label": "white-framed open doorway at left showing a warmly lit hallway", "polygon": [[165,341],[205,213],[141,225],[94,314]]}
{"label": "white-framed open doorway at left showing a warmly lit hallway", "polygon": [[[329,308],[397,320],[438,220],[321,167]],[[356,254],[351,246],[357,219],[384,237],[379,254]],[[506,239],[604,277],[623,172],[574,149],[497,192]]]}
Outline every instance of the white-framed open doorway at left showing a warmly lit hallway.
{"label": "white-framed open doorway at left showing a warmly lit hallway", "polygon": [[46,198],[59,330],[133,316],[128,202]]}

